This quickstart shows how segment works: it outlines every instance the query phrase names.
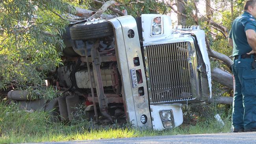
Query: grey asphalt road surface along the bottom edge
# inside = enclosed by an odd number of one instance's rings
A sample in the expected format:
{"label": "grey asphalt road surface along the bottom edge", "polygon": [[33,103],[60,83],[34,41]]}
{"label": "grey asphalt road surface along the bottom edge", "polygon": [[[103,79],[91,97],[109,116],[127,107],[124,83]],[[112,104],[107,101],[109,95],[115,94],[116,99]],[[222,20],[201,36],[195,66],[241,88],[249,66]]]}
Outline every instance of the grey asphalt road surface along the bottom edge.
{"label": "grey asphalt road surface along the bottom edge", "polygon": [[256,144],[256,132],[112,138],[43,144]]}

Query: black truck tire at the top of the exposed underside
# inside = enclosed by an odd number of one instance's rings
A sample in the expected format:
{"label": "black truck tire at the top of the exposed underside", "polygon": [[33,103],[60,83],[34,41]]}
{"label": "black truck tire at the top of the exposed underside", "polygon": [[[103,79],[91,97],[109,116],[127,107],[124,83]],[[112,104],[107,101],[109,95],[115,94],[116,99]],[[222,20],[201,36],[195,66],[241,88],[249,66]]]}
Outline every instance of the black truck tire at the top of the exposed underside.
{"label": "black truck tire at the top of the exposed underside", "polygon": [[80,23],[70,27],[70,36],[72,40],[87,40],[102,38],[114,35],[113,27],[108,22],[99,22],[95,24]]}

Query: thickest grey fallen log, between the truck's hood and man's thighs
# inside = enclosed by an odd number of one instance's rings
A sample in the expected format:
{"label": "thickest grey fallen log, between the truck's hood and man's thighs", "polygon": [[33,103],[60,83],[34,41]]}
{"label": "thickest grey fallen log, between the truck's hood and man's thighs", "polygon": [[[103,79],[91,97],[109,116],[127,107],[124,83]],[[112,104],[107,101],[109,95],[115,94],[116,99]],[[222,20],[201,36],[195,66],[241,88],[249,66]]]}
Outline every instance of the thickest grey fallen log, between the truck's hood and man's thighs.
{"label": "thickest grey fallen log, between the truck's hood and man's thighs", "polygon": [[221,83],[222,85],[230,89],[234,88],[232,74],[220,68],[214,68],[213,70],[211,70],[211,78],[213,79],[213,81]]}

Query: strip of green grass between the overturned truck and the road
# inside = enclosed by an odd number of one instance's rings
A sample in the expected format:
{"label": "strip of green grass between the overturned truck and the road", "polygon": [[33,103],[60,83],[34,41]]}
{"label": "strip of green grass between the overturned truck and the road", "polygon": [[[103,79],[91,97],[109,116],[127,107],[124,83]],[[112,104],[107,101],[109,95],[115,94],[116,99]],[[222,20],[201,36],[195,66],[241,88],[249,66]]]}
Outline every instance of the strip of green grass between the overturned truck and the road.
{"label": "strip of green grass between the overturned truck and the road", "polygon": [[[196,113],[199,115],[199,113]],[[26,113],[19,111],[17,105],[4,105],[0,102],[0,144],[22,143],[22,142],[46,142],[46,141],[68,141],[89,140],[102,138],[129,138],[158,135],[179,134],[202,134],[202,133],[225,133],[230,131],[230,114],[222,114],[225,126],[212,118],[203,118],[202,115],[195,116],[189,112],[191,120],[196,121],[184,124],[171,130],[155,131],[152,129],[139,130],[130,126],[107,126],[92,128],[91,122],[80,121],[72,124],[53,123],[50,121],[49,113],[36,111]]]}

